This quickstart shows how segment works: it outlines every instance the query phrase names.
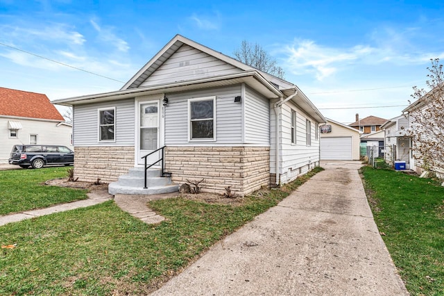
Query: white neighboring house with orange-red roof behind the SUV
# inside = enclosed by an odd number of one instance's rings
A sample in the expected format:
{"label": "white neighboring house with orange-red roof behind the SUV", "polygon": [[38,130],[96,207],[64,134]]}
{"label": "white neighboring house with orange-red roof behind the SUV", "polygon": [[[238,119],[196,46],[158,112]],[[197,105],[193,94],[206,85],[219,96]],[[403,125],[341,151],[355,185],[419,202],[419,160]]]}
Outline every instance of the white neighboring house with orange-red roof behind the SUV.
{"label": "white neighboring house with orange-red roof behind the SUV", "polygon": [[0,88],[0,163],[17,144],[64,145],[71,149],[72,128],[45,94]]}

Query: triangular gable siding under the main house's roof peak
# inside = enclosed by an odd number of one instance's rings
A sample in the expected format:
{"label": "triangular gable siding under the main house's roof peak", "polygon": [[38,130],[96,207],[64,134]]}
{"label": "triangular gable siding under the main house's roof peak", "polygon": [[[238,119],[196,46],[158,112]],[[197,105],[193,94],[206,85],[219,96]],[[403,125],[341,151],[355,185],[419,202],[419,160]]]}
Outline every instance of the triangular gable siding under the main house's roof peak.
{"label": "triangular gable siding under the main house's roof peak", "polygon": [[205,54],[189,45],[182,45],[140,86],[189,81],[239,72],[241,69],[214,56]]}

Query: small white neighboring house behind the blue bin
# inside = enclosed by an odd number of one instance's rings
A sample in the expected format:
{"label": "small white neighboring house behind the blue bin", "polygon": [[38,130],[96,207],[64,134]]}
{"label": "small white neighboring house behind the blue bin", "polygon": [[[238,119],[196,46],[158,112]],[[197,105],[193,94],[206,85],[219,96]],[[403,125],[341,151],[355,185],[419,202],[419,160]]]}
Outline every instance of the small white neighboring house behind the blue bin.
{"label": "small white neighboring house behind the blue bin", "polygon": [[404,115],[394,117],[382,124],[381,129],[385,137],[386,163],[394,166],[395,161],[405,161],[406,168],[414,167],[414,160],[411,155],[411,140],[407,133],[409,120]]}

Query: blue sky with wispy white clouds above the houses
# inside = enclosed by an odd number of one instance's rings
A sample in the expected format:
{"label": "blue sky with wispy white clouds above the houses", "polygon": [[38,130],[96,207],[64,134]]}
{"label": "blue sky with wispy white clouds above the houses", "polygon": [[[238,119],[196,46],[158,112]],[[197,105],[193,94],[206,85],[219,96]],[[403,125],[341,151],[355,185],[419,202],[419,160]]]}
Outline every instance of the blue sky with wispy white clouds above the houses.
{"label": "blue sky with wispy white clouds above the houses", "polygon": [[443,31],[444,1],[0,0],[0,86],[51,100],[119,90],[180,34],[228,56],[260,44],[332,120],[389,119],[444,58]]}

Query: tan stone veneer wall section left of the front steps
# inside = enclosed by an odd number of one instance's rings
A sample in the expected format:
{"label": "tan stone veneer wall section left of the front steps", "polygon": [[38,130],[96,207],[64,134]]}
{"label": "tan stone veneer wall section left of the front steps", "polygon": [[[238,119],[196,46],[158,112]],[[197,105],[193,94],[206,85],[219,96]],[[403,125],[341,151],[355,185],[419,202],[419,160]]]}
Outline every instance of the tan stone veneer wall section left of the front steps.
{"label": "tan stone veneer wall section left of the front steps", "polygon": [[74,176],[78,181],[117,181],[134,167],[134,147],[74,147]]}

